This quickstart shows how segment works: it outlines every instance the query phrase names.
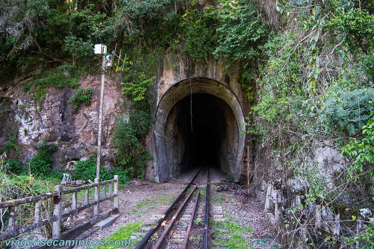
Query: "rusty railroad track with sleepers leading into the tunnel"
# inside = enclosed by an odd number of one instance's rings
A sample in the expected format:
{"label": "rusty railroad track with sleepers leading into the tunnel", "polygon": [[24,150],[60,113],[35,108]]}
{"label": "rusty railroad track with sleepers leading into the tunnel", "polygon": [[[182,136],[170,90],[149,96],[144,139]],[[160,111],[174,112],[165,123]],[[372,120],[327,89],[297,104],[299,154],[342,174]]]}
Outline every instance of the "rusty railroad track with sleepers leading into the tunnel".
{"label": "rusty railroad track with sleepers leading into the tunnel", "polygon": [[209,248],[209,217],[220,218],[222,215],[212,214],[222,210],[213,207],[214,211],[209,212],[208,167],[200,168],[177,199],[165,208],[166,211],[157,221],[155,218],[158,215],[154,215],[144,222],[145,227],[140,229],[143,233],[132,234],[132,238],[143,237],[135,249]]}

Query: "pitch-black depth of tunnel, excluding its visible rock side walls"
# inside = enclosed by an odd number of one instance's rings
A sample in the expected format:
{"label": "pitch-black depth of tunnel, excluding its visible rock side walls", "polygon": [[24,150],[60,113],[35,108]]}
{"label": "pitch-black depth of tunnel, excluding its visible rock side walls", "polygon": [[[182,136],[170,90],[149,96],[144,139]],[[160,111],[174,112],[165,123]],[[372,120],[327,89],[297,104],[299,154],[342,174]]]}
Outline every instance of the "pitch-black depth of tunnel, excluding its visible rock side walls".
{"label": "pitch-black depth of tunnel, excluding its visible rock side walls", "polygon": [[182,99],[178,126],[184,130],[186,147],[182,163],[185,168],[202,164],[220,167],[220,145],[226,133],[225,117],[218,103],[220,101],[207,94],[194,94]]}

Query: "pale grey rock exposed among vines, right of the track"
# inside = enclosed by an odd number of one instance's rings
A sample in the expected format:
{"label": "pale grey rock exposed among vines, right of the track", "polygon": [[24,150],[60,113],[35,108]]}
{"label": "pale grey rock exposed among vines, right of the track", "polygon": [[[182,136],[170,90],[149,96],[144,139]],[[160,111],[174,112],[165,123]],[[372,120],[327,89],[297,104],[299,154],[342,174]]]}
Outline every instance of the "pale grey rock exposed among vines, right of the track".
{"label": "pale grey rock exposed among vines, right of the track", "polygon": [[[309,174],[315,181],[321,181],[327,189],[335,187],[339,181],[336,179],[336,172],[346,168],[348,162],[333,147],[315,142],[312,153],[304,156],[301,169],[297,169],[298,166],[295,165],[285,168],[287,166],[269,148],[258,145],[254,160],[257,177],[252,183],[251,192],[265,203],[265,211],[273,223],[281,219],[284,210],[300,205],[302,196],[310,188],[306,175]],[[309,205],[307,208],[315,212],[316,206]]]}

